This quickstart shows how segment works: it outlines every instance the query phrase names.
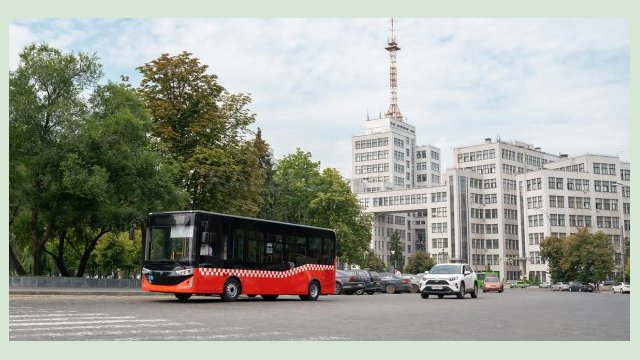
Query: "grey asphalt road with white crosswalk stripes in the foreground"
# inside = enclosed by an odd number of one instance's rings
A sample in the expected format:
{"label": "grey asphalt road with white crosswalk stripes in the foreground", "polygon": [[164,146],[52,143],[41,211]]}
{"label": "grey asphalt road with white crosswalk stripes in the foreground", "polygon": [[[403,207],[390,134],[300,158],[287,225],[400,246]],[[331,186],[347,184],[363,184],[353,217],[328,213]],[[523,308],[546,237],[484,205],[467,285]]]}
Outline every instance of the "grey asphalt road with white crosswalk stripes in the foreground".
{"label": "grey asphalt road with white crosswalk stripes in the foreground", "polygon": [[505,289],[477,299],[419,294],[241,297],[16,295],[9,340],[630,340],[630,296]]}

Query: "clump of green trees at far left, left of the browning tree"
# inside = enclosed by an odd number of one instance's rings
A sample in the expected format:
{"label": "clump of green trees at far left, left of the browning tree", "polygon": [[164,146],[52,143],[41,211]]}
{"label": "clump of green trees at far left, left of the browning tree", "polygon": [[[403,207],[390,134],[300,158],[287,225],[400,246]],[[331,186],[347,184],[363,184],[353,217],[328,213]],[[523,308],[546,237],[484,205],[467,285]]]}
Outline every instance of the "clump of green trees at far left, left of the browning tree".
{"label": "clump of green trees at far left, left of the browning tree", "polygon": [[27,219],[11,231],[15,241],[30,234],[34,275],[43,273],[45,253],[70,275],[71,246],[82,276],[103,235],[181,201],[170,168],[149,146],[149,115],[136,92],[97,86],[100,69],[95,56],[32,45],[10,74],[11,209]]}

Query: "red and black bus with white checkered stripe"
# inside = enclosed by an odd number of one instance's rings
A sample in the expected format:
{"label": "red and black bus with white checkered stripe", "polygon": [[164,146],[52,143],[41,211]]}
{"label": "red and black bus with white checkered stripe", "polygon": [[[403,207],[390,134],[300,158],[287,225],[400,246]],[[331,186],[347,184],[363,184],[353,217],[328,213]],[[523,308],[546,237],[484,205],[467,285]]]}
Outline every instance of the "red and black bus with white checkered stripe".
{"label": "red and black bus with white checkered stripe", "polygon": [[142,290],[182,301],[334,292],[333,230],[205,211],[151,213],[146,225]]}

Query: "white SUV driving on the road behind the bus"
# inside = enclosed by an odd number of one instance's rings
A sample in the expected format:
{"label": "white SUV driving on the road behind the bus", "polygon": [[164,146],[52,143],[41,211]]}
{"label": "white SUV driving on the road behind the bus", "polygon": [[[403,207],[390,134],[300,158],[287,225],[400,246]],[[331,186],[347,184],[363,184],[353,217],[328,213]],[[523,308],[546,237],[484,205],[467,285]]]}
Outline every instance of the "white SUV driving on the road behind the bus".
{"label": "white SUV driving on the road behind the bus", "polygon": [[478,297],[476,280],[478,276],[468,264],[437,264],[420,280],[420,295],[423,299],[429,295],[456,295],[464,298],[466,293],[472,298]]}

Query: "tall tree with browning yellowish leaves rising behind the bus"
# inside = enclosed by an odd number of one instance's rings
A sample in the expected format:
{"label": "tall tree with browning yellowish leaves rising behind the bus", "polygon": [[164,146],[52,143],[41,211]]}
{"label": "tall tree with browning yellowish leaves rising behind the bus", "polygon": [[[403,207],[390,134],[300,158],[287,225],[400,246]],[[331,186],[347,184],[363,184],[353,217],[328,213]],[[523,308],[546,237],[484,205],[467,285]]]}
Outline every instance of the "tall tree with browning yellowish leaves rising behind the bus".
{"label": "tall tree with browning yellowish leaves rising behind the bus", "polygon": [[138,68],[151,133],[175,165],[175,183],[189,195],[191,209],[255,216],[268,145],[260,134],[246,140],[255,121],[250,97],[228,93],[207,69],[188,52],[163,54]]}

